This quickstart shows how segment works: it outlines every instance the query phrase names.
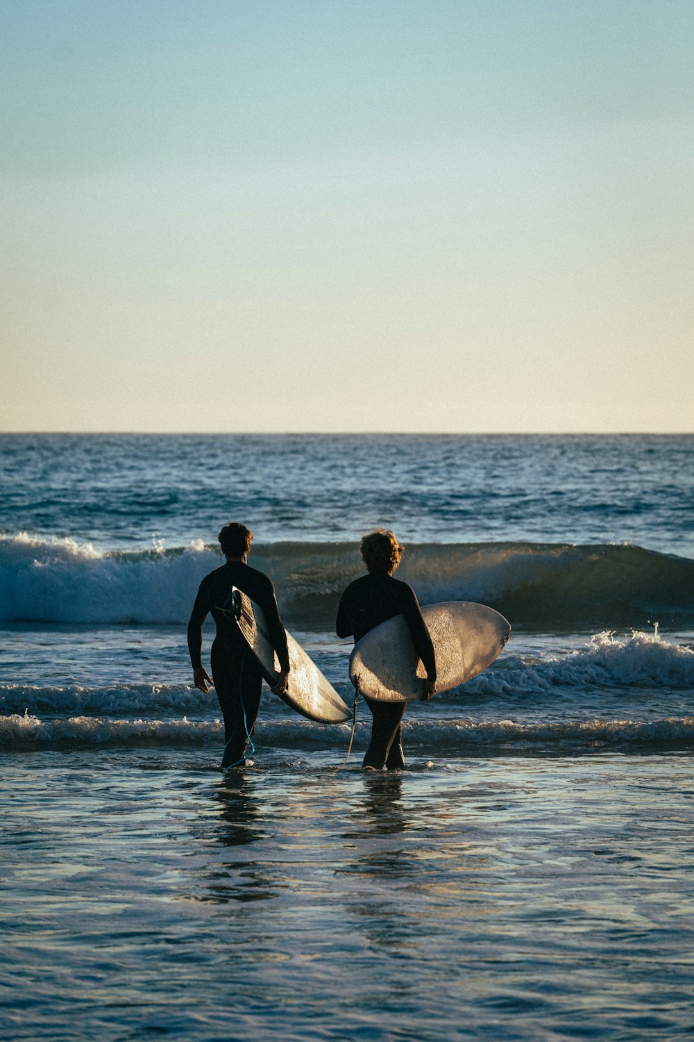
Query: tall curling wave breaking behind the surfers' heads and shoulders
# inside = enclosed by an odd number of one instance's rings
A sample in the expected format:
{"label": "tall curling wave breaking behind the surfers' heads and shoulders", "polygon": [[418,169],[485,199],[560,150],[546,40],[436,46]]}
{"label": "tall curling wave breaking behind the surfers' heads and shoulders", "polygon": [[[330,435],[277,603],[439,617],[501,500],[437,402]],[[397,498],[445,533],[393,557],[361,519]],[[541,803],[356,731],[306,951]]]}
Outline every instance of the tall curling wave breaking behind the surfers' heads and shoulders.
{"label": "tall curling wave breaking behind the surfers' heads and shoulders", "polygon": [[[275,581],[287,625],[331,630],[361,574],[353,543],[275,543],[252,562]],[[183,624],[216,549],[103,553],[73,539],[0,536],[0,620]],[[694,561],[636,546],[470,543],[408,546],[397,575],[422,603],[472,600],[515,626],[589,628],[694,621]]]}

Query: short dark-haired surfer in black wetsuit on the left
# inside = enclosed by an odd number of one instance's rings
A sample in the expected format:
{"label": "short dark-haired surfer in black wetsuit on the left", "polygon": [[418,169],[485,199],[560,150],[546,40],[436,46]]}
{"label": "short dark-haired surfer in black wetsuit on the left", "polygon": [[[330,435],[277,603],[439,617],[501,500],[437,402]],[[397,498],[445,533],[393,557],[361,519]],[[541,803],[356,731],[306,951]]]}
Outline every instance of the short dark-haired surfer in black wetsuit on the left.
{"label": "short dark-haired surfer in black wetsuit on the left", "polygon": [[[236,587],[263,610],[267,632],[280,663],[280,676],[273,691],[286,691],[289,676],[287,637],[280,619],[272,580],[247,563],[253,534],[243,524],[232,522],[224,526],[217,539],[227,563],[206,575],[200,584],[188,621],[188,652],[196,688],[207,693],[213,685],[224,716],[225,750],[222,767],[234,767],[245,762],[246,750],[253,734],[258,708],[262,674],[237,626],[227,611],[230,592]],[[216,624],[216,635],[210,652],[212,679],[202,664],[202,626],[209,613]]]}

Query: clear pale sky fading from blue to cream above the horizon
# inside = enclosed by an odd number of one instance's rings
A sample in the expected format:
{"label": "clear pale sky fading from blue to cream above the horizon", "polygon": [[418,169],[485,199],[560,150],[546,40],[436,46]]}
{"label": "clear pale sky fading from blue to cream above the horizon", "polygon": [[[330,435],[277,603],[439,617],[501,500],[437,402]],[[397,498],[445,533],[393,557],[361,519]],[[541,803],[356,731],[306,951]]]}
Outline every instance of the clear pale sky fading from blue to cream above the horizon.
{"label": "clear pale sky fading from blue to cream above the horizon", "polygon": [[694,430],[691,0],[0,0],[5,431]]}

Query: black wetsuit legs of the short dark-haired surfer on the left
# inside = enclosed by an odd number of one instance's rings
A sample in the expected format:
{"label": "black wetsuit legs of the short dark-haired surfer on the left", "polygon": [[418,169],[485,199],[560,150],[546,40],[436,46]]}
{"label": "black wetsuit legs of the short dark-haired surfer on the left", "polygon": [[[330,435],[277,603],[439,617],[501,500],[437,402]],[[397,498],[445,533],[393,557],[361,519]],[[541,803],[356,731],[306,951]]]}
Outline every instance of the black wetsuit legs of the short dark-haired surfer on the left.
{"label": "black wetsuit legs of the short dark-haired surfer on the left", "polygon": [[224,717],[223,767],[240,762],[253,734],[262,689],[262,674],[243,648],[215,648],[210,654],[212,680]]}

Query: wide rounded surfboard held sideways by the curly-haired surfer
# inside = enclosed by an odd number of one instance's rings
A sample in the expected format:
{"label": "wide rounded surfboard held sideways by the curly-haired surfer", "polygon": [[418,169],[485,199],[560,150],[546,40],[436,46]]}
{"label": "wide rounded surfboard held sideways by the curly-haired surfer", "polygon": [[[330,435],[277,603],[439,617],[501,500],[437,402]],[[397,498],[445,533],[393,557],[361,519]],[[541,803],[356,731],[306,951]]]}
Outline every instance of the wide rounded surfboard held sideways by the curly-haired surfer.
{"label": "wide rounded surfboard held sideways by the curly-haired surfer", "polygon": [[[464,684],[491,665],[511,632],[498,612],[466,600],[427,604],[421,614],[434,644],[437,693]],[[355,689],[377,701],[420,698],[426,676],[404,615],[375,626],[350,655]]]}

